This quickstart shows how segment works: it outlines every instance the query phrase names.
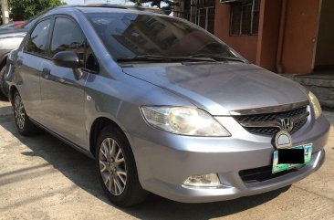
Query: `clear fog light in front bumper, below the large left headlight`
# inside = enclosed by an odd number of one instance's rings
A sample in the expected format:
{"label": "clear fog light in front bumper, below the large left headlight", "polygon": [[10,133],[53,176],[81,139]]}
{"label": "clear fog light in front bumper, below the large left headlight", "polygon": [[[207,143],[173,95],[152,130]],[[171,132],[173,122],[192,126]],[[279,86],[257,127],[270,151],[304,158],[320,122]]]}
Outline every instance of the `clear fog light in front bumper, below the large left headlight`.
{"label": "clear fog light in front bumper, below the large left headlight", "polygon": [[204,175],[192,175],[188,177],[183,185],[192,187],[218,187],[221,186],[219,178],[216,173],[209,173]]}

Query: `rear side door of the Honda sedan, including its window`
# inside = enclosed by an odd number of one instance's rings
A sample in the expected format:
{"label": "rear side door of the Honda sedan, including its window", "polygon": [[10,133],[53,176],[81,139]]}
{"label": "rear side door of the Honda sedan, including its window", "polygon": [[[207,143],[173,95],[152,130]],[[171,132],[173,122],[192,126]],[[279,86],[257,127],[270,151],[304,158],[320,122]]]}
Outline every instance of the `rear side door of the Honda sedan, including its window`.
{"label": "rear side door of the Honda sedan, including its window", "polygon": [[51,28],[51,18],[37,23],[26,36],[23,49],[17,53],[17,88],[24,101],[30,118],[41,121],[39,78],[43,71],[42,63],[47,60],[47,38]]}

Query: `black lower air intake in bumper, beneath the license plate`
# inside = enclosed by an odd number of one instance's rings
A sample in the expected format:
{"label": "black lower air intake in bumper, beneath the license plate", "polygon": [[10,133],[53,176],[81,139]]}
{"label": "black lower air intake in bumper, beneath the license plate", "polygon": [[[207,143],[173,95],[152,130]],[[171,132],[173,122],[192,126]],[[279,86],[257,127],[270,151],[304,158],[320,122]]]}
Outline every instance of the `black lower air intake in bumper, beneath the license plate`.
{"label": "black lower air intake in bumper, beneath the license plate", "polygon": [[244,183],[259,183],[270,179],[277,178],[278,176],[285,175],[287,173],[293,173],[296,169],[291,169],[279,173],[272,173],[272,166],[264,166],[249,170],[243,170],[239,172],[239,175]]}

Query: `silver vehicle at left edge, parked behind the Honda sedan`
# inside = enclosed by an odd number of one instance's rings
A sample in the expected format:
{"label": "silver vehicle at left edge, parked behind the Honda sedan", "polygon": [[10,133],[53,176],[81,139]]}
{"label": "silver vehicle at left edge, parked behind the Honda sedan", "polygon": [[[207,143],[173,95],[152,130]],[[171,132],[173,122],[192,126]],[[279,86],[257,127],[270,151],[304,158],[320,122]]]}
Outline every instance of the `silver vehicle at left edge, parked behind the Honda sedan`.
{"label": "silver vehicle at left edge, parked behind the Honda sedan", "polygon": [[[2,26],[0,27],[0,96],[6,97],[8,87],[5,83],[5,62],[11,50],[20,46],[26,31],[35,24],[37,18],[27,21],[23,26]],[[6,25],[14,25],[6,24]]]}

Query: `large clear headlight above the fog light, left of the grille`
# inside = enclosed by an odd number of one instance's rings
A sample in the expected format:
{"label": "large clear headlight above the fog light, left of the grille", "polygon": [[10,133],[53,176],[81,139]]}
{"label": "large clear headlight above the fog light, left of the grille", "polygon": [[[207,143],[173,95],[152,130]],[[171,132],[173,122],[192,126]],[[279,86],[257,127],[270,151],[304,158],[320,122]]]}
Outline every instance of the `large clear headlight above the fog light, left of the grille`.
{"label": "large clear headlight above the fog light, left of the grille", "polygon": [[204,110],[190,107],[141,107],[151,126],[181,135],[227,137],[231,134]]}

